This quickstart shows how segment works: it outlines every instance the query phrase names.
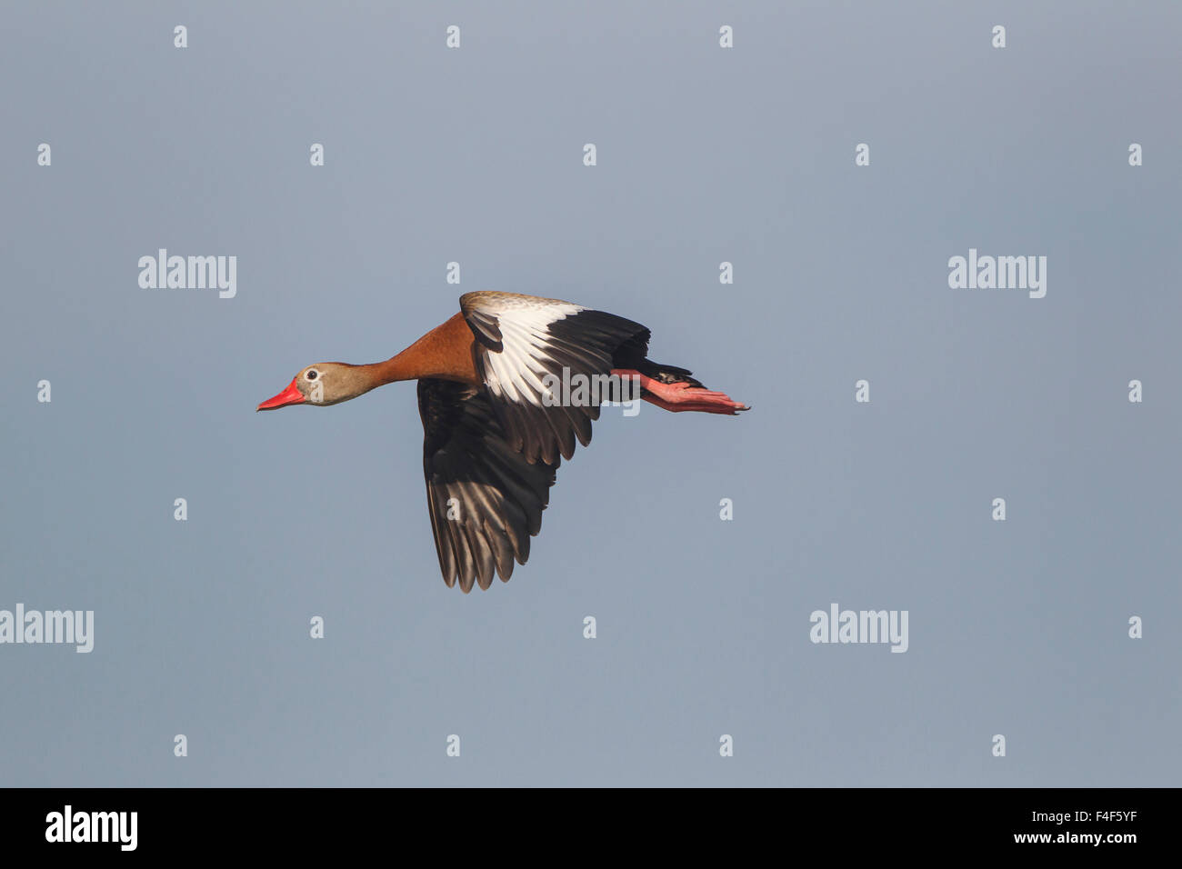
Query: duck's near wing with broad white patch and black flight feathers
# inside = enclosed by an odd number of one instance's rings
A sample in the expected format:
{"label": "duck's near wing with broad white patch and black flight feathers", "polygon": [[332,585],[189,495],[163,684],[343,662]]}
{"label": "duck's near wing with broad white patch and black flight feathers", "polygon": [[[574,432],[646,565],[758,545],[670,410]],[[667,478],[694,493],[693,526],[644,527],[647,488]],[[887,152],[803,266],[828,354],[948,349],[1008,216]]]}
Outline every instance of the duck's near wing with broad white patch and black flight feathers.
{"label": "duck's near wing with broad white patch and black flight feathers", "polygon": [[574,439],[590,443],[591,421],[599,419],[596,390],[579,407],[563,406],[544,383],[546,375],[558,382],[564,382],[564,369],[567,378],[609,375],[622,344],[643,358],[649,342],[649,330],[639,323],[559,299],[465,293],[460,310],[476,337],[476,368],[494,413],[509,443],[530,462],[557,465],[559,454],[570,459]]}

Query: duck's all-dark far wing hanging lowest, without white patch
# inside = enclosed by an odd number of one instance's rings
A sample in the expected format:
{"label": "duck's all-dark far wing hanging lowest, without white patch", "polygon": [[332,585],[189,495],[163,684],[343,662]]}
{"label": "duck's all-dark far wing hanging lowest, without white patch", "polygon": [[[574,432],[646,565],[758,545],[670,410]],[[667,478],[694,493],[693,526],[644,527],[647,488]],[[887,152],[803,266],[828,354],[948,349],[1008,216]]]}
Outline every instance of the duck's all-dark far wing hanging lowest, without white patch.
{"label": "duck's all-dark far wing hanging lowest, without white patch", "polygon": [[443,582],[487,589],[504,582],[514,558],[525,564],[541,530],[558,461],[531,463],[505,439],[487,390],[434,378],[418,381],[423,473]]}

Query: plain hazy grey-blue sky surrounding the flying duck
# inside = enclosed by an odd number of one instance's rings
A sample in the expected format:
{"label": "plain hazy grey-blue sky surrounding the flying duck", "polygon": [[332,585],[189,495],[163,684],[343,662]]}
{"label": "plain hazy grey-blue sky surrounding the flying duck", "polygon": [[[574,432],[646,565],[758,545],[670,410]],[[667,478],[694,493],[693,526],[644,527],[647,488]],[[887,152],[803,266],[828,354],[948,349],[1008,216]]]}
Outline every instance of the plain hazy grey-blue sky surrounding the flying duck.
{"label": "plain hazy grey-blue sky surrounding the flying duck", "polygon": [[[2,17],[0,609],[95,648],[0,644],[0,782],[1178,784],[1182,7]],[[141,288],[161,247],[235,298]],[[949,288],[969,248],[1046,297]],[[449,590],[413,384],[254,407],[469,290],[639,320],[754,409],[605,411],[530,563]],[[833,602],[908,651],[811,643]]]}

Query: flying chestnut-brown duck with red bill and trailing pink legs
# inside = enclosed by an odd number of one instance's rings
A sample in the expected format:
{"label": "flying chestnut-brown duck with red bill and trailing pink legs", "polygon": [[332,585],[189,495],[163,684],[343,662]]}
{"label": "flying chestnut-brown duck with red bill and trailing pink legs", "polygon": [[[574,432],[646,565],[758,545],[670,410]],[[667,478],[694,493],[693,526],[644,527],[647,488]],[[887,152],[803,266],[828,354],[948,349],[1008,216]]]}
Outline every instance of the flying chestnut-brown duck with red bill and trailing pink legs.
{"label": "flying chestnut-brown duck with red bill and trailing pink legs", "polygon": [[418,381],[423,473],[448,586],[487,589],[530,557],[541,511],[574,440],[591,442],[606,401],[735,415],[747,406],[690,371],[647,358],[639,323],[570,301],[501,292],[460,297],[460,313],[369,365],[322,362],[259,404],[327,407],[375,387]]}

